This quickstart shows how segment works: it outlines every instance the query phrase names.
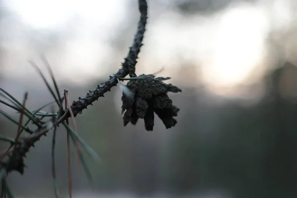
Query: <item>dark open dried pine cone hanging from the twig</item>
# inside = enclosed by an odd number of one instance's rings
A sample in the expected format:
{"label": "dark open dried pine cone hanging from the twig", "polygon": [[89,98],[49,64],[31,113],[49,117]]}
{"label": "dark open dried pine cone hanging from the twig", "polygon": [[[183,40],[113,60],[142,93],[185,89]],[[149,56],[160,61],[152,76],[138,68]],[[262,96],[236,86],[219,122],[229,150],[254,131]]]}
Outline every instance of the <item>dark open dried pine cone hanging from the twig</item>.
{"label": "dark open dried pine cone hanging from the twig", "polygon": [[147,131],[153,130],[154,112],[163,121],[166,129],[175,126],[177,121],[173,118],[177,116],[179,108],[172,105],[172,100],[167,96],[167,92],[182,92],[181,89],[162,81],[169,78],[145,78],[140,75],[137,79],[130,80],[127,88],[130,93],[123,93],[122,113],[124,113],[124,126],[129,122],[136,124],[138,119],[145,120]]}

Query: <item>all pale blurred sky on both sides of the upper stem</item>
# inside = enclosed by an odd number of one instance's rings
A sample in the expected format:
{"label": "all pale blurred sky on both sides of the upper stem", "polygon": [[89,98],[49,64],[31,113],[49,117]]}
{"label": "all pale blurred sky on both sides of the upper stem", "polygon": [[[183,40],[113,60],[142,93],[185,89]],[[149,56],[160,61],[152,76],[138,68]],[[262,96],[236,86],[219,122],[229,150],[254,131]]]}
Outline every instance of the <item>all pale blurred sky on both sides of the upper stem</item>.
{"label": "all pale blurred sky on both sides of the upper stem", "polygon": [[[136,0],[4,0],[23,29],[40,34],[57,32],[61,36],[63,45],[53,45],[45,55],[57,70],[57,78],[73,83],[104,76],[109,72],[106,64],[118,61],[114,68],[120,66],[121,58],[106,62],[112,54],[118,54],[109,45],[108,37],[134,13],[130,10],[132,1],[137,3]],[[199,67],[203,82],[213,92],[219,92],[222,87],[253,83],[263,75],[269,32],[286,31],[293,21],[290,0],[259,0],[254,4],[238,1],[214,14],[190,18],[172,9],[170,2],[162,3],[162,14],[148,20],[138,72],[154,73],[165,67],[164,75],[170,76],[176,73],[181,64],[178,59],[182,58]],[[151,1],[152,8],[157,4],[158,0]],[[149,14],[154,13],[150,7],[148,10]],[[69,26],[73,19],[77,20],[75,25]],[[7,57],[18,58],[4,60],[4,64],[10,65],[4,67],[4,72],[20,77],[26,76],[26,72],[33,75],[34,70],[28,69],[25,62],[28,58],[38,58],[37,51],[41,49],[30,43],[29,33],[26,35],[26,31],[16,27],[10,29],[11,39],[4,41],[4,47],[9,49]],[[13,34],[15,31],[21,33]],[[126,43],[129,46],[132,40]]]}

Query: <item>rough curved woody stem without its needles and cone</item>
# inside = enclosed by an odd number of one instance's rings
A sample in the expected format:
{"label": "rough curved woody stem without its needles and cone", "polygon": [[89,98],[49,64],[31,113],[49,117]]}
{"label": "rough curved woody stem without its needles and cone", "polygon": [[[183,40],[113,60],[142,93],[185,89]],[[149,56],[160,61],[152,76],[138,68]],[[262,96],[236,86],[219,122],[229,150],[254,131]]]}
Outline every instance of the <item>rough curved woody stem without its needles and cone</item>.
{"label": "rough curved woody stem without its needles and cone", "polygon": [[[121,69],[119,69],[116,74],[109,76],[109,80],[98,85],[95,90],[89,91],[89,93],[84,98],[79,98],[79,100],[73,101],[71,110],[74,116],[76,116],[78,113],[81,113],[84,109],[87,109],[87,106],[90,104],[92,105],[92,103],[95,100],[98,100],[99,97],[104,97],[103,95],[107,91],[110,91],[113,86],[116,86],[117,78],[125,78],[128,74],[130,77],[136,76],[135,65],[137,63],[140,48],[143,45],[142,41],[144,38],[148,14],[147,1],[138,0],[138,3],[141,16],[138,23],[137,33],[135,35],[133,45],[129,49],[127,57],[124,58],[125,61],[122,63]],[[26,156],[26,153],[29,151],[29,149],[32,146],[34,147],[35,142],[37,142],[43,135],[46,135],[49,130],[53,129],[59,123],[62,123],[71,116],[69,109],[67,109],[62,116],[60,115],[61,114],[58,113],[58,119],[56,119],[56,122],[53,123],[53,121],[50,120],[44,123],[42,126],[39,126],[38,129],[28,137],[20,137],[17,144],[15,144],[15,148],[13,149],[12,153],[8,155],[8,159],[6,161],[0,161],[0,170],[4,167],[6,174],[11,171],[18,171],[19,173],[23,174],[25,167],[24,157]]]}

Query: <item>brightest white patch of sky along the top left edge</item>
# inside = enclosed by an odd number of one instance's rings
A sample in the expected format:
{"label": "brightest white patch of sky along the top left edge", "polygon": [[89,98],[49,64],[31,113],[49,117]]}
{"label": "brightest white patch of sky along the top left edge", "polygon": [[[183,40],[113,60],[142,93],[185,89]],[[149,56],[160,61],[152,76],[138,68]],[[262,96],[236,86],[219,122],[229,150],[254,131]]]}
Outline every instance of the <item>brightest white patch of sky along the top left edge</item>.
{"label": "brightest white patch of sky along the top left edge", "polygon": [[[96,25],[124,16],[128,0],[7,0],[21,20],[34,28],[57,28],[74,15]],[[122,8],[122,9],[121,9]]]}

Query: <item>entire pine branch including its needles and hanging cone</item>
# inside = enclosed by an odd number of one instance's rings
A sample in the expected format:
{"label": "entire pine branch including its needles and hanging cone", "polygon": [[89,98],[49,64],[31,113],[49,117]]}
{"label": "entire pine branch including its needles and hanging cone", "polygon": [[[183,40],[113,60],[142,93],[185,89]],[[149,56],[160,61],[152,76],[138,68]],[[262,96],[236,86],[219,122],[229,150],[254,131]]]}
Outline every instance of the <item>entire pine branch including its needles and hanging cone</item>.
{"label": "entire pine branch including its needles and hanging cone", "polygon": [[[45,81],[47,88],[52,95],[52,97],[55,99],[56,105],[59,107],[58,112],[56,113],[49,113],[49,112],[41,112],[40,110],[44,108],[45,106],[51,104],[46,104],[43,107],[39,108],[36,111],[30,111],[25,107],[25,101],[26,97],[24,99],[23,104],[21,104],[18,100],[16,100],[14,97],[9,95],[5,90],[0,88],[0,91],[7,96],[6,98],[12,102],[12,104],[9,104],[7,102],[4,102],[0,100],[0,103],[3,103],[13,109],[18,110],[21,112],[20,114],[20,120],[17,122],[14,120],[11,116],[6,114],[4,111],[0,110],[0,113],[3,114],[5,117],[7,117],[9,120],[14,122],[15,124],[18,124],[18,136],[15,140],[9,139],[6,137],[0,136],[0,141],[5,141],[7,143],[10,143],[10,148],[3,154],[0,154],[0,181],[2,181],[1,185],[1,196],[10,195],[10,191],[8,187],[6,186],[5,179],[7,175],[12,171],[17,171],[20,174],[24,173],[24,158],[26,157],[26,153],[29,151],[31,147],[34,147],[34,144],[40,140],[42,136],[46,136],[47,133],[50,130],[53,130],[54,136],[56,127],[58,127],[59,124],[62,124],[66,128],[67,131],[67,137],[68,137],[68,146],[69,146],[69,138],[71,138],[72,142],[75,143],[76,148],[78,148],[78,157],[82,162],[83,169],[85,170],[85,173],[87,177],[92,180],[92,175],[90,171],[88,170],[86,163],[84,161],[84,158],[82,156],[82,153],[80,152],[80,149],[78,147],[78,144],[84,149],[95,161],[99,161],[100,158],[97,155],[97,153],[90,148],[77,134],[76,132],[76,126],[74,125],[74,130],[69,126],[67,120],[71,117],[74,121],[74,117],[78,113],[82,113],[84,109],[87,109],[87,106],[92,105],[92,103],[95,100],[98,100],[99,97],[104,97],[104,94],[111,90],[112,87],[116,86],[118,82],[121,80],[130,80],[127,85],[123,85],[122,89],[125,88],[125,92],[123,90],[123,96],[122,96],[122,111],[125,111],[123,121],[124,126],[126,126],[129,122],[132,124],[136,124],[137,121],[140,119],[144,119],[145,121],[145,127],[148,131],[153,130],[154,125],[154,113],[157,114],[157,116],[162,120],[164,123],[166,129],[171,128],[176,125],[177,121],[173,118],[177,116],[177,113],[179,111],[179,108],[174,106],[172,104],[172,100],[169,99],[167,96],[168,92],[182,92],[181,89],[178,87],[175,87],[171,84],[165,84],[162,81],[170,79],[170,77],[157,77],[155,78],[155,75],[149,74],[149,75],[140,75],[139,77],[135,74],[135,67],[137,64],[137,58],[138,54],[140,52],[141,47],[143,46],[142,42],[144,39],[144,33],[146,30],[146,24],[147,24],[147,18],[148,18],[148,5],[146,0],[138,0],[139,4],[139,11],[140,11],[140,20],[138,22],[138,28],[136,35],[134,37],[134,41],[132,46],[129,48],[127,56],[124,58],[124,62],[122,63],[122,67],[118,70],[117,73],[113,74],[112,76],[109,76],[109,79],[98,85],[96,89],[93,91],[89,91],[87,95],[83,98],[79,97],[77,101],[73,101],[72,105],[69,107],[69,101],[68,98],[65,95],[65,98],[61,98],[59,89],[57,86],[57,83],[54,79],[53,73],[50,70],[49,62],[46,60],[45,56],[42,56],[42,59],[44,63],[46,64],[51,79],[54,84],[54,89],[50,87],[49,82],[43,75],[42,71],[38,68],[38,66],[31,61],[32,65],[37,69],[37,71],[42,76],[43,80]],[[129,79],[124,79],[127,75],[130,76]],[[149,86],[148,86],[149,85]],[[64,93],[67,91],[64,90]],[[130,93],[129,96],[127,96],[127,93]],[[66,109],[63,109],[62,101],[65,99],[65,102],[67,105],[65,105]],[[67,108],[69,107],[69,108]],[[23,116],[27,116],[29,119],[23,125]],[[38,116],[41,116],[38,117]],[[50,117],[51,119],[44,121],[43,118]],[[37,127],[36,130],[30,130],[27,127],[27,124],[32,121],[33,124]],[[25,130],[25,132],[28,132],[27,137],[19,137],[19,134]],[[54,167],[54,145],[55,140],[53,137],[52,141],[52,174],[53,174],[53,180],[54,180],[54,188],[55,188],[55,196],[58,197],[58,189],[56,188],[55,184],[55,167]],[[6,156],[6,160],[3,161],[2,158]],[[69,157],[69,156],[68,156]],[[70,160],[69,160],[70,161]],[[70,167],[70,166],[69,166]],[[70,171],[70,168],[69,168]],[[69,181],[71,182],[71,177],[69,177]],[[69,195],[71,197],[71,185],[69,188]]]}

